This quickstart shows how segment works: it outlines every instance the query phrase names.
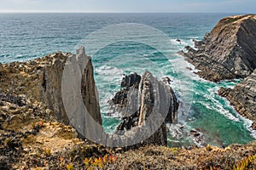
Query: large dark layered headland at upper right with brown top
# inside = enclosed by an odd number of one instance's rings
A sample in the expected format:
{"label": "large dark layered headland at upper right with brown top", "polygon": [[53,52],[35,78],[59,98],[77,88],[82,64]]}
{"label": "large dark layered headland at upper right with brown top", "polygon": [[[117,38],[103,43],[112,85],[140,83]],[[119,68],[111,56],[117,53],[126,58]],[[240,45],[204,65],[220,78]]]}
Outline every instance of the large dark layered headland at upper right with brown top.
{"label": "large dark layered headland at upper right with brown top", "polygon": [[236,15],[220,20],[195,48],[179,52],[210,81],[244,78],[256,69],[256,15]]}

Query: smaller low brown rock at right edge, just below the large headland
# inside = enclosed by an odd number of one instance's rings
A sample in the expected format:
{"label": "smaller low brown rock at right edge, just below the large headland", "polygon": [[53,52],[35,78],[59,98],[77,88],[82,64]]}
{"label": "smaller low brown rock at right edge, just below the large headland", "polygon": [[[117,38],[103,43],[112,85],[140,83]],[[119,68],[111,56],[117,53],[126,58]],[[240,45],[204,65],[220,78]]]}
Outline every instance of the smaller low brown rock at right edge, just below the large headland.
{"label": "smaller low brown rock at right edge, just below the large headland", "polygon": [[236,111],[253,121],[256,130],[256,70],[235,88],[220,88],[218,94],[227,98]]}

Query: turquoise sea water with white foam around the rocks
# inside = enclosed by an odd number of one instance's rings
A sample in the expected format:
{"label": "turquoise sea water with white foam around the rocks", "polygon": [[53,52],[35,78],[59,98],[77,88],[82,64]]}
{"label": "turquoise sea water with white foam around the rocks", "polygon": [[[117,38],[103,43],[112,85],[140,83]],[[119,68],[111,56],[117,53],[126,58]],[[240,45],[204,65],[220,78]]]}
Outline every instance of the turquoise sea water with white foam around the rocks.
{"label": "turquoise sea water with white foam around the rocks", "polygon": [[[113,132],[120,122],[118,115],[107,113],[108,100],[120,89],[123,74],[143,74],[148,70],[160,79],[171,77],[180,100],[178,123],[169,126],[170,145],[246,144],[256,137],[249,128],[251,122],[237,115],[229,102],[218,96],[220,87],[232,88],[240,80],[207,82],[193,73],[193,65],[177,55],[178,50],[193,45],[192,39],[201,40],[218,20],[228,15],[231,14],[0,14],[0,62],[34,59],[59,50],[74,52],[84,37],[104,26],[153,26],[170,39],[164,47],[167,57],[138,42],[115,42],[92,56],[105,130]],[[106,41],[108,38],[111,35],[106,35]],[[86,50],[90,54],[90,49]],[[191,135],[192,129],[199,131],[200,137]]]}

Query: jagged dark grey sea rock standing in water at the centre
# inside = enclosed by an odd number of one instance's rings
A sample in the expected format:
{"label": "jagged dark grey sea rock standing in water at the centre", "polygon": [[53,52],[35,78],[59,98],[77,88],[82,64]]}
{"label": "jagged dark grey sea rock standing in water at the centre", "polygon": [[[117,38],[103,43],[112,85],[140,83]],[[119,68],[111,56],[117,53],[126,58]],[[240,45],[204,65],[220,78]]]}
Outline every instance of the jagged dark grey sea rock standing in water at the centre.
{"label": "jagged dark grey sea rock standing in water at the centre", "polygon": [[[165,103],[170,97],[167,105],[161,105],[160,107],[160,109],[166,109],[166,118],[163,119],[163,122],[160,122],[160,127],[153,135],[142,141],[143,144],[166,145],[166,122],[173,123],[177,121],[178,104],[172,88],[164,82],[158,81],[148,71],[144,73],[143,77],[136,73],[125,76],[121,86],[125,89],[120,90],[112,99],[113,107],[118,108],[115,111],[120,111],[123,119],[123,122],[117,127],[116,133],[120,134],[119,131],[121,131],[122,134],[125,134],[128,130],[140,127],[148,121],[149,116],[158,114],[154,112],[154,106]],[[155,94],[160,94],[160,96]],[[150,126],[154,126],[155,122],[151,122],[151,124]]]}

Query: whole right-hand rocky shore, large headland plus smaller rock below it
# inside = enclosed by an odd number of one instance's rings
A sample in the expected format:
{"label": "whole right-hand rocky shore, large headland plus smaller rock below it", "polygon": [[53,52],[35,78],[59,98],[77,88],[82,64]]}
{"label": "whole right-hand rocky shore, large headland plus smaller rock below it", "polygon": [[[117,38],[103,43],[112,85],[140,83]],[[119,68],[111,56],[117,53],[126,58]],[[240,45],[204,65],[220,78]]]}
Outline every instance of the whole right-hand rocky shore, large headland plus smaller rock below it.
{"label": "whole right-hand rocky shore, large headland plus smaller rock below it", "polygon": [[196,74],[212,82],[243,78],[234,89],[221,88],[218,94],[227,98],[241,116],[253,121],[256,129],[255,71],[256,15],[236,15],[218,22],[195,48],[180,51],[189,63],[199,69]]}

